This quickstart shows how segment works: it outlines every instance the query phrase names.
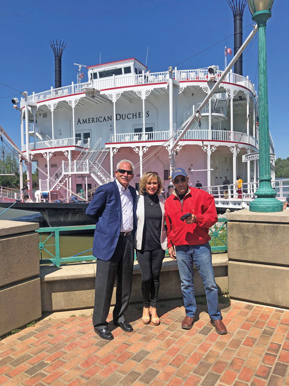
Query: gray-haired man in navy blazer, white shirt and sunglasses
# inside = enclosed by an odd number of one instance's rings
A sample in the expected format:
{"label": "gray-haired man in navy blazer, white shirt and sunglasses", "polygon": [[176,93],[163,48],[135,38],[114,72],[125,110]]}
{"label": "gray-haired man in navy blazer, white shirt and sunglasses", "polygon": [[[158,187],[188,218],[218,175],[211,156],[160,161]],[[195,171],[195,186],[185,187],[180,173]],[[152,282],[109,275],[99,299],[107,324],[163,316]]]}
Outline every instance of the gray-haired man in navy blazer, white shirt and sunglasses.
{"label": "gray-haired man in navy blazer, white shirt and sunglasses", "polygon": [[117,276],[116,305],[113,321],[126,332],[132,331],[125,320],[132,285],[134,232],[136,231],[136,190],[129,186],[133,178],[133,164],[122,159],[115,172],[116,180],[96,190],[86,214],[96,222],[93,256],[97,258],[94,331],[102,339],[113,339],[107,329],[115,278]]}

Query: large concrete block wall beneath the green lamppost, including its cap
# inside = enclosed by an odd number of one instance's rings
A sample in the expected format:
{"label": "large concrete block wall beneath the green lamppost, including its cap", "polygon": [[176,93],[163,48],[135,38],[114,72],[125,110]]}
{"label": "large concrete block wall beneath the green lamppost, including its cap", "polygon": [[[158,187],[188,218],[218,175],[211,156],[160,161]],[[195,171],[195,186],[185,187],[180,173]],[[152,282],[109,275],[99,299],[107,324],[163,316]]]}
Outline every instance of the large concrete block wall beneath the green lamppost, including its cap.
{"label": "large concrete block wall beneath the green lamppost, including its cap", "polygon": [[289,212],[227,215],[232,298],[289,307]]}

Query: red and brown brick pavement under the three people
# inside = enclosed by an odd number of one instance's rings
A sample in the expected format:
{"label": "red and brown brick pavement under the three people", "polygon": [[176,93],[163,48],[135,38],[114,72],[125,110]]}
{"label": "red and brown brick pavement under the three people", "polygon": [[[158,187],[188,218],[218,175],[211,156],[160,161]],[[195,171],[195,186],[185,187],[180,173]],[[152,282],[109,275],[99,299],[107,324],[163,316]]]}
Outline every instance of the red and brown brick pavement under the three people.
{"label": "red and brown brick pavement under the three people", "polygon": [[112,341],[95,335],[90,315],[40,320],[0,341],[0,384],[289,385],[289,311],[231,301],[221,336],[205,306],[191,330],[180,328],[177,302],[159,307],[157,327],[143,325],[140,306],[131,305],[133,333],[110,324]]}

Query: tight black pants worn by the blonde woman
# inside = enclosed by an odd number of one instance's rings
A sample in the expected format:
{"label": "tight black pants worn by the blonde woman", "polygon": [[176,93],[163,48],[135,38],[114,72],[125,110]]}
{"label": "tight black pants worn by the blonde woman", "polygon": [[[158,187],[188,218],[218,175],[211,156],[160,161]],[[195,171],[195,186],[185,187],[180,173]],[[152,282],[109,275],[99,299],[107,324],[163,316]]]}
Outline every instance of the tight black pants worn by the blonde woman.
{"label": "tight black pants worn by the blonde woman", "polygon": [[141,272],[141,293],[144,307],[157,307],[160,271],[165,251],[163,249],[136,251]]}

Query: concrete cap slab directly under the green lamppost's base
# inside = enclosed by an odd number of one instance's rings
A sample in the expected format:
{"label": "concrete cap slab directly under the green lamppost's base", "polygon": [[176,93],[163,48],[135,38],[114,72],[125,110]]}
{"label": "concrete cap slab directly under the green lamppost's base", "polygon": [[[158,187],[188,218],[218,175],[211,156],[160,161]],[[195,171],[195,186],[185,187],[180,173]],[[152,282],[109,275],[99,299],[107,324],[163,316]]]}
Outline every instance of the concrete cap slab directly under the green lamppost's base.
{"label": "concrete cap slab directly under the green lamppost's base", "polygon": [[227,213],[226,218],[230,221],[289,223],[289,210],[275,213],[259,213],[250,212],[249,209],[241,209],[232,213]]}

